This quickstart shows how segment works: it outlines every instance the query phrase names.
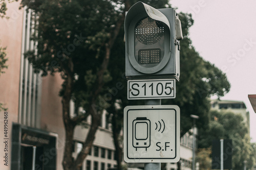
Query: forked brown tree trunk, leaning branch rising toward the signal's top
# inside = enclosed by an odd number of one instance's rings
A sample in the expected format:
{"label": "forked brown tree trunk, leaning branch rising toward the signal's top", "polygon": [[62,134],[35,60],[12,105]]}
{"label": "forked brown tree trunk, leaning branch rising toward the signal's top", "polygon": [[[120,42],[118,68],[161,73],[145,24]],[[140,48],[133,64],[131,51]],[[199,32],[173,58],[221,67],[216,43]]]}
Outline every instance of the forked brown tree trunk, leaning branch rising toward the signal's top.
{"label": "forked brown tree trunk, leaning branch rising toward the signal's top", "polygon": [[[69,106],[67,106],[67,102],[69,104],[72,93],[70,93],[70,95],[69,95],[70,98],[67,97],[67,100],[64,100],[64,97],[63,97],[62,105],[63,105],[63,121],[65,123],[65,129],[66,129],[66,145],[65,145],[65,153],[63,156],[62,165],[65,170],[78,170],[82,166],[83,160],[87,157],[87,155],[93,145],[93,141],[95,139],[95,134],[97,132],[97,129],[100,125],[100,120],[101,120],[101,114],[98,114],[97,109],[95,109],[95,106],[97,106],[96,99],[98,98],[98,95],[101,92],[102,87],[104,85],[103,75],[109,65],[111,49],[113,47],[113,44],[116,40],[117,35],[119,34],[120,28],[123,24],[123,21],[125,18],[125,11],[127,11],[131,7],[129,0],[126,0],[124,3],[125,3],[125,10],[123,12],[123,15],[117,21],[116,27],[113,30],[113,32],[111,32],[109,42],[105,44],[105,56],[104,56],[103,62],[101,64],[101,68],[97,72],[96,86],[93,89],[93,91],[91,92],[91,96],[92,96],[92,100],[90,103],[91,107],[89,108],[88,112],[90,115],[92,115],[92,124],[91,124],[90,130],[89,130],[89,133],[87,135],[87,138],[83,143],[82,150],[78,154],[75,161],[71,159],[72,158],[72,142],[73,142],[74,128],[78,123],[80,123],[79,121],[81,121],[81,120],[74,122],[70,119]],[[66,86],[66,89],[67,89],[67,86]],[[67,94],[67,96],[68,96],[68,94]],[[69,99],[69,101],[68,101],[68,99]],[[70,123],[73,125],[72,127],[69,127]],[[69,142],[71,142],[71,144],[68,144]]]}

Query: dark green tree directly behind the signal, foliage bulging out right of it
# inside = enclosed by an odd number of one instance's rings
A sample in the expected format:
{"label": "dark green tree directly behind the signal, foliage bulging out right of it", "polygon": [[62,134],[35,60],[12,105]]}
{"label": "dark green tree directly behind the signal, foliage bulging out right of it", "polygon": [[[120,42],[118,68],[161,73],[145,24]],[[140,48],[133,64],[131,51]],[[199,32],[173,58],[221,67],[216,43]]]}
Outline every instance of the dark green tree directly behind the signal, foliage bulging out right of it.
{"label": "dark green tree directly behind the signal, foliage bulging out right of it", "polygon": [[[154,6],[158,8],[159,6]],[[177,82],[177,96],[174,100],[162,100],[162,104],[175,104],[181,109],[181,136],[183,136],[191,127],[193,127],[193,120],[190,118],[190,114],[196,114],[200,116],[199,122],[197,122],[197,127],[200,129],[205,129],[208,127],[210,110],[209,97],[211,95],[223,96],[229,91],[230,84],[223,72],[215,67],[215,65],[204,61],[202,57],[196,52],[195,48],[191,44],[191,40],[188,37],[188,30],[193,25],[194,20],[191,15],[180,13],[179,18],[181,19],[182,32],[184,39],[181,40],[181,51],[180,51],[180,65],[181,65],[181,76],[180,82]],[[123,90],[119,90],[116,95],[113,96],[111,106],[114,105],[115,101],[119,101],[120,109],[115,112],[115,108],[108,108],[109,113],[113,113],[113,117],[116,120],[113,124],[115,128],[115,133],[120,132],[123,122],[123,108],[125,106],[132,105],[144,105],[144,101],[127,101],[126,94],[126,78],[124,76],[124,57],[119,57],[124,55],[124,46],[122,45],[121,39],[123,34],[121,34],[120,40],[116,43],[120,50],[114,51],[112,54],[112,59],[119,64],[110,63],[111,75],[116,75],[113,80],[110,81],[110,87],[115,87],[116,82],[121,82],[123,85]],[[118,74],[115,74],[118,73]],[[112,110],[111,110],[112,109]],[[115,126],[116,125],[116,126]],[[119,136],[115,138],[115,143],[118,146],[121,145],[122,141],[118,141]],[[117,151],[121,150],[116,149]],[[121,157],[121,152],[119,157]]]}

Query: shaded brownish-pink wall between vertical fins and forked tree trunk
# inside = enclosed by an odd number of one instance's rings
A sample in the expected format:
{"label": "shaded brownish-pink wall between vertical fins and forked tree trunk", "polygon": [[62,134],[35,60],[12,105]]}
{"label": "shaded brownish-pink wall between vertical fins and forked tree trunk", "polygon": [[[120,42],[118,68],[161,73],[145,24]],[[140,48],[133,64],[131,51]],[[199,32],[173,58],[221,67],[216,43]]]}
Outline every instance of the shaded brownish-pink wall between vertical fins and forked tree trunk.
{"label": "shaded brownish-pink wall between vertical fins and forked tree trunk", "polygon": [[61,98],[58,95],[62,79],[59,74],[42,77],[41,91],[41,129],[58,134],[57,169],[62,168],[65,147],[65,127],[62,120]]}

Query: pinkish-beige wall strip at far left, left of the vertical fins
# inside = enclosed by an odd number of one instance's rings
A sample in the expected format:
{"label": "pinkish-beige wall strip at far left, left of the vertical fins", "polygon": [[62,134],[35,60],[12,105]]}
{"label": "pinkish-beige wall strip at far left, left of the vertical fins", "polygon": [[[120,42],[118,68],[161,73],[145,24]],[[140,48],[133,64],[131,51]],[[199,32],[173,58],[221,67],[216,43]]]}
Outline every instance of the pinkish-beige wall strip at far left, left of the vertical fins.
{"label": "pinkish-beige wall strip at far left, left of the vertical fins", "polygon": [[[0,46],[7,47],[7,65],[4,74],[0,75],[0,103],[8,108],[8,151],[5,152],[4,143],[4,111],[0,111],[0,169],[10,169],[11,163],[11,127],[12,122],[18,122],[18,97],[19,97],[19,70],[20,51],[22,41],[23,11],[18,9],[19,3],[8,4],[9,19],[0,18]],[[8,154],[8,166],[4,165],[3,157]]]}

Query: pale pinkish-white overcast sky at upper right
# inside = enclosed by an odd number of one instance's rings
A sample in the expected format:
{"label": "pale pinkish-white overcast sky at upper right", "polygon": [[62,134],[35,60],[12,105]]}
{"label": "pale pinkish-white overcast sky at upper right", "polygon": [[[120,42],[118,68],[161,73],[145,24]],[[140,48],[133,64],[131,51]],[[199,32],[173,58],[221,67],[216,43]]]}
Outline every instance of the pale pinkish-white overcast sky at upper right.
{"label": "pale pinkish-white overcast sky at upper right", "polygon": [[170,4],[177,12],[192,14],[192,45],[227,75],[231,88],[221,100],[245,103],[251,141],[256,142],[256,113],[248,99],[248,94],[256,94],[256,1],[170,0]]}

